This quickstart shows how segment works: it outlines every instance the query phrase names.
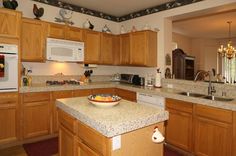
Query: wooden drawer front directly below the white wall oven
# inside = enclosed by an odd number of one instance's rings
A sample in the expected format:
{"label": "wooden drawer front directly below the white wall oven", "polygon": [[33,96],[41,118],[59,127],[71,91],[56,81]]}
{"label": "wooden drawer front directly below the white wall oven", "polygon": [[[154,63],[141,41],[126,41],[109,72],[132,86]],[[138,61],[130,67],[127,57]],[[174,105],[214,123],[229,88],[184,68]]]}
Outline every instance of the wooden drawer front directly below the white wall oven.
{"label": "wooden drawer front directly below the white wall oven", "polygon": [[0,104],[17,104],[18,94],[17,93],[0,93]]}

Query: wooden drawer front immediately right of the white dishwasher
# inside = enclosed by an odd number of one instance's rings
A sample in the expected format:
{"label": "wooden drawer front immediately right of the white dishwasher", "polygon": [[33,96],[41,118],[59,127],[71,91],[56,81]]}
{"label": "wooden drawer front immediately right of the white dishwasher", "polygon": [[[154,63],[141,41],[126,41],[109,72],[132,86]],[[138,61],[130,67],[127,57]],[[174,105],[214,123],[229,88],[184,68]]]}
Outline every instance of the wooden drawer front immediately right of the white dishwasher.
{"label": "wooden drawer front immediately right of the white dishwasher", "polygon": [[185,101],[174,100],[174,99],[166,99],[166,107],[192,113],[193,112],[193,104]]}

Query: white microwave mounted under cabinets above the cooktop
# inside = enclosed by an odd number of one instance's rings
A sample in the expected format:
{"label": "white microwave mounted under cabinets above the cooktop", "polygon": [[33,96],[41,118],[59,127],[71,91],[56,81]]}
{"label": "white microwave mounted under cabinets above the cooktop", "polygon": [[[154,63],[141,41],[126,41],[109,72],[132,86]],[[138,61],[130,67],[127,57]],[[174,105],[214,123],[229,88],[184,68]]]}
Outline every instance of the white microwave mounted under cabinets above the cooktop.
{"label": "white microwave mounted under cabinets above the cooktop", "polygon": [[47,38],[47,60],[61,62],[83,62],[84,43]]}

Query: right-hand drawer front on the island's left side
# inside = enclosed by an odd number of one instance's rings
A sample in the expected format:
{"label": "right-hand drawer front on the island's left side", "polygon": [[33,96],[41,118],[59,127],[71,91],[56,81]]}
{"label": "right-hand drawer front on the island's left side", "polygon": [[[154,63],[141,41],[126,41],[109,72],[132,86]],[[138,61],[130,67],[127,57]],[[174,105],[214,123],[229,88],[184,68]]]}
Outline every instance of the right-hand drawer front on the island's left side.
{"label": "right-hand drawer front on the island's left side", "polygon": [[77,135],[88,147],[102,155],[106,155],[106,150],[108,148],[106,146],[108,145],[108,143],[106,143],[107,138],[105,136],[79,121]]}

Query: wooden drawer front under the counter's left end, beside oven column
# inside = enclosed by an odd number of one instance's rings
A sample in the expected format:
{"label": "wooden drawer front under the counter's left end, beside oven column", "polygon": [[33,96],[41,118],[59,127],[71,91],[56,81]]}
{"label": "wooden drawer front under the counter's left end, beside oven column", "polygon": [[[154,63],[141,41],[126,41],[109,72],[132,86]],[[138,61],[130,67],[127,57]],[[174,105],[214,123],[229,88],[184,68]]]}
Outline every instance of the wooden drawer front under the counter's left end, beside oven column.
{"label": "wooden drawer front under the counter's left end, beside oven column", "polygon": [[49,92],[23,94],[23,102],[38,102],[38,101],[49,101],[49,100],[50,100]]}

